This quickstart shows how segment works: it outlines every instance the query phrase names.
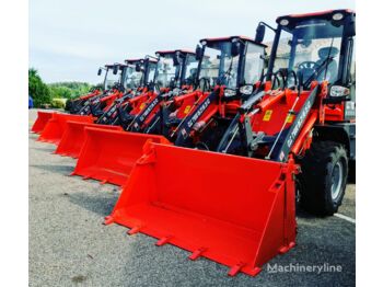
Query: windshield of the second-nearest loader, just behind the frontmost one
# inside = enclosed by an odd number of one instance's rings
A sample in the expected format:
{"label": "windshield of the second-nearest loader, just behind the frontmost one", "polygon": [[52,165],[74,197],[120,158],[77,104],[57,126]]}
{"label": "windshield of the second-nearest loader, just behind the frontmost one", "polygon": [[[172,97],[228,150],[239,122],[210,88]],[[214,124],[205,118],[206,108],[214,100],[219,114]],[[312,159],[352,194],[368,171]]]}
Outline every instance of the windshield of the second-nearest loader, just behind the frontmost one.
{"label": "windshield of the second-nearest loader, just behind the frontmost one", "polygon": [[211,87],[236,88],[240,56],[232,57],[231,46],[231,42],[217,42],[205,47],[200,77],[209,79]]}

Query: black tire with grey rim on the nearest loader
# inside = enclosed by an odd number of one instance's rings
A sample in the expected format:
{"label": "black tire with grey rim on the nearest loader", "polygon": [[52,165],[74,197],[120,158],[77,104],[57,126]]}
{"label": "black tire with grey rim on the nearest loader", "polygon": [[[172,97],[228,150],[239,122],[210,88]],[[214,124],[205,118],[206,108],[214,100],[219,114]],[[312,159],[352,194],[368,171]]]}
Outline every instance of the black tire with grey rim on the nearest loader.
{"label": "black tire with grey rim on the nearest loader", "polygon": [[300,163],[301,207],[318,216],[337,213],[347,184],[348,158],[345,147],[329,140],[313,142]]}

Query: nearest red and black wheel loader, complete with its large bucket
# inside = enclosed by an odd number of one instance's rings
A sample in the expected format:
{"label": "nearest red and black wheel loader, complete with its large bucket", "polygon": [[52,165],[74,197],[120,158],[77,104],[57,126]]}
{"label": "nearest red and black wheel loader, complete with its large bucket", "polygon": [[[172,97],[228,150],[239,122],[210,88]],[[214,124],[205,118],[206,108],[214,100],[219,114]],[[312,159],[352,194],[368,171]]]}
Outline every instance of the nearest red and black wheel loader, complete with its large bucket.
{"label": "nearest red and black wheel loader, complete with its large bucket", "polygon": [[220,87],[218,96],[241,101],[223,133],[209,129],[218,145],[198,120],[184,134],[192,149],[147,141],[105,225],[227,265],[230,276],[257,275],[293,248],[297,197],[332,215],[355,160],[355,22],[350,10],[260,22],[255,43],[266,27],[275,33],[265,79],[246,97],[246,82]]}

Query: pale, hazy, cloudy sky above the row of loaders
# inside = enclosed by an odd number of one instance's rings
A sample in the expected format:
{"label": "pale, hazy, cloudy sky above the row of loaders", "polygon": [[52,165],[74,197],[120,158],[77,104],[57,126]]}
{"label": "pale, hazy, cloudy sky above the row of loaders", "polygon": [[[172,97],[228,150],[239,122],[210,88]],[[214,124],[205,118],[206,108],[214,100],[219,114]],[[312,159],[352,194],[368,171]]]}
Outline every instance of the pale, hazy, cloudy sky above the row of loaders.
{"label": "pale, hazy, cloudy sky above the row of loaders", "polygon": [[205,37],[254,37],[259,21],[275,26],[280,15],[343,8],[355,9],[355,1],[33,0],[30,67],[48,83],[98,83],[105,64],[195,49]]}

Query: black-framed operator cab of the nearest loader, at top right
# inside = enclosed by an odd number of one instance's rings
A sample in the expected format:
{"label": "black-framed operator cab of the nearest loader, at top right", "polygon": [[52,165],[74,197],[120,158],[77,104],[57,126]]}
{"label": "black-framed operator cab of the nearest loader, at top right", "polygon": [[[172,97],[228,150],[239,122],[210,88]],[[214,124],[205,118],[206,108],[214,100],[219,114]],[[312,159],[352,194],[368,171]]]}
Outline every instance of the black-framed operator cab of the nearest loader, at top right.
{"label": "black-framed operator cab of the nearest loader, at top right", "polygon": [[297,76],[304,90],[313,81],[349,85],[355,16],[351,10],[334,10],[278,18],[268,79],[282,69],[288,87]]}

